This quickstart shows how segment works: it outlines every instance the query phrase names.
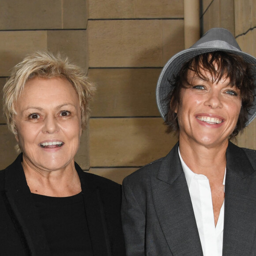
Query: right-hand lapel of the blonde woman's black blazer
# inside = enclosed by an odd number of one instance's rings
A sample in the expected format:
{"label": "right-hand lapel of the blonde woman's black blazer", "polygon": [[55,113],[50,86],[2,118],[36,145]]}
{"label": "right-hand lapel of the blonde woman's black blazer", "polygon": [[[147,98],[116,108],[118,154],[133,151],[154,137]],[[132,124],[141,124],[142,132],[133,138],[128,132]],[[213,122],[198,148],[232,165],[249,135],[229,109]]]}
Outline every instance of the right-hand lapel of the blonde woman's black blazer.
{"label": "right-hand lapel of the blonde woman's black blazer", "polygon": [[[85,212],[94,256],[111,256],[111,249],[105,222],[100,192],[97,184],[90,182],[90,175],[75,164],[84,198]],[[86,176],[86,178],[85,178]]]}

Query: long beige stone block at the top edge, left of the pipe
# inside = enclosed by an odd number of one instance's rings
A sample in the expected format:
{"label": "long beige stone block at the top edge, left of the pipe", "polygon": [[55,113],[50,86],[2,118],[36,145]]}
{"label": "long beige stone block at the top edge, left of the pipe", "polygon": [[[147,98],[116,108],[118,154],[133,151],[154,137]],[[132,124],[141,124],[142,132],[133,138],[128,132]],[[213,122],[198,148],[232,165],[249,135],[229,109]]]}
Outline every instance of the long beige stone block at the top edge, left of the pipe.
{"label": "long beige stone block at the top edge, left of the pipe", "polygon": [[183,0],[89,0],[89,18],[183,18]]}

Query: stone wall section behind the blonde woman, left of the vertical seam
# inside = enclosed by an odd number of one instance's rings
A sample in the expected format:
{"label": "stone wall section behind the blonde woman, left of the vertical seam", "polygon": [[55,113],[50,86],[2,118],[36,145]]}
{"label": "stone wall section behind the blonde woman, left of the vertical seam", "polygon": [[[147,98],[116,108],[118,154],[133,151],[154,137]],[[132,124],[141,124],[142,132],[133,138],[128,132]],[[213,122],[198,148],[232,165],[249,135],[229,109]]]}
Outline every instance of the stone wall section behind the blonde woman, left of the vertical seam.
{"label": "stone wall section behind the blonde woman, left of the vertical seam", "polygon": [[[1,0],[0,89],[10,69],[38,50],[61,52],[88,69],[87,0]],[[77,161],[89,168],[88,132],[83,133]],[[14,136],[0,114],[0,169],[15,160]]]}

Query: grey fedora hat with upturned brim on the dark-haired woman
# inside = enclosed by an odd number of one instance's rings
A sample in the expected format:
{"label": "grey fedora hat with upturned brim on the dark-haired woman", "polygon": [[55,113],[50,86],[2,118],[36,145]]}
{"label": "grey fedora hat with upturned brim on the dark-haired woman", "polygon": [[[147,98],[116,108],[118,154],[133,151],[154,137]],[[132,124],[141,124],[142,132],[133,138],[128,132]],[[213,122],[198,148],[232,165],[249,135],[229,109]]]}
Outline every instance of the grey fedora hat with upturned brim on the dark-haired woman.
{"label": "grey fedora hat with upturned brim on the dark-haired woman", "polygon": [[[171,86],[169,81],[173,80],[173,76],[177,75],[185,62],[202,53],[209,53],[214,51],[234,53],[242,56],[245,62],[256,65],[256,58],[248,53],[241,51],[236,39],[233,37],[229,30],[223,28],[212,28],[208,30],[189,49],[183,50],[171,57],[162,69],[156,87],[156,101],[158,110],[164,120],[168,112],[166,97],[169,92],[173,90],[173,86]],[[254,67],[254,74],[256,78],[256,66]],[[254,98],[253,107],[248,114],[248,122],[246,125],[252,122],[255,117],[256,98]]]}

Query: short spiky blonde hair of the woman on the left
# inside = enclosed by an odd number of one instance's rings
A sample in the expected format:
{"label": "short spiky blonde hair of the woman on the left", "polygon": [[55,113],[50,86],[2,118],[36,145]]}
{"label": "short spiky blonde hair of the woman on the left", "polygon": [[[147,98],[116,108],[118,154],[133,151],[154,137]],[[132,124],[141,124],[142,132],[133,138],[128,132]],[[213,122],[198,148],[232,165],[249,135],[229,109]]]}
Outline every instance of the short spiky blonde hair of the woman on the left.
{"label": "short spiky blonde hair of the woman on the left", "polygon": [[72,84],[79,96],[81,123],[84,129],[90,115],[90,100],[95,91],[94,85],[88,82],[87,75],[82,68],[72,64],[60,53],[54,56],[49,52],[36,52],[26,56],[12,69],[10,79],[3,89],[4,116],[11,132],[17,134],[14,121],[15,104],[26,82],[35,77],[60,77]]}

